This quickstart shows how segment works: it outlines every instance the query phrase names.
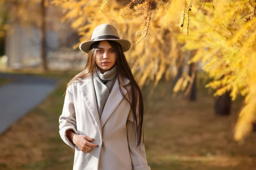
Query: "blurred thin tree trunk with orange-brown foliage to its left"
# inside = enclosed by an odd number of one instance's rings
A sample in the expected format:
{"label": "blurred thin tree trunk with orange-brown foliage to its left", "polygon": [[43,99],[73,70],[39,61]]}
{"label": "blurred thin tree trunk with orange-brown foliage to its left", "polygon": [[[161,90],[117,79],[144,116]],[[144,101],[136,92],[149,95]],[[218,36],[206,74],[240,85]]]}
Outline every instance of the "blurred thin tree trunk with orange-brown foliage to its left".
{"label": "blurred thin tree trunk with orange-brown foliage to its left", "polygon": [[41,60],[44,71],[47,67],[46,52],[46,8],[48,0],[1,0],[5,19],[0,25],[0,34],[5,35],[6,29],[14,29],[11,26],[37,26],[41,30]]}

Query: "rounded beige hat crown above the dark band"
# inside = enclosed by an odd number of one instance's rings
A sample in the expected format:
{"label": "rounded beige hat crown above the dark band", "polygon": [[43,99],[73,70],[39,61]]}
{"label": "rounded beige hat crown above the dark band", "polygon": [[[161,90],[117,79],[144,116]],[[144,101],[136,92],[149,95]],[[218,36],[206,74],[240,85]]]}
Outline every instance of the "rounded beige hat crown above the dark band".
{"label": "rounded beige hat crown above the dark band", "polygon": [[110,24],[101,24],[96,28],[94,28],[91,40],[95,39],[96,37],[106,36],[106,35],[119,37],[119,34],[114,26]]}

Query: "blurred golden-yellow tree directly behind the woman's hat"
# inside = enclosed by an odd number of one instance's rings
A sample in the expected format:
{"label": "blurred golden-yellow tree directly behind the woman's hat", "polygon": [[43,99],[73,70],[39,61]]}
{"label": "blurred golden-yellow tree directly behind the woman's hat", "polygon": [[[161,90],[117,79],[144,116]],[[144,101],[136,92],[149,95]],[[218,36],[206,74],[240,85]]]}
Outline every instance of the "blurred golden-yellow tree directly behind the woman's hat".
{"label": "blurred golden-yellow tree directly behind the woman's hat", "polygon": [[[175,24],[175,19],[178,20],[180,14],[175,7],[166,6],[167,4],[162,2],[163,8],[159,8],[156,13],[159,5],[154,11],[150,10],[153,1],[145,2],[143,6],[140,3],[134,5],[134,1],[125,7],[123,7],[124,1],[120,1],[122,2],[120,4],[115,0],[111,0],[111,5],[108,5],[109,1],[100,3],[90,0],[52,0],[51,2],[62,7],[66,12],[63,21],[71,22],[71,26],[79,31],[82,36],[80,42],[90,40],[93,29],[102,23],[111,23],[119,30],[120,37],[128,38],[132,44],[140,42],[131,47],[126,57],[141,87],[148,82],[147,80],[155,80],[156,86],[163,76],[170,79],[177,74],[178,66],[183,60],[178,57],[181,45],[177,42],[179,28]],[[135,12],[129,8],[132,5],[136,9]],[[178,5],[182,6],[182,4]],[[147,10],[144,11],[147,16],[137,10],[144,6],[147,6]],[[167,16],[166,8],[172,8],[170,12],[173,14],[176,11],[176,16],[168,21],[167,18],[163,18]],[[95,9],[99,9],[100,12]],[[104,10],[108,12],[103,12]],[[125,17],[125,20],[119,16]],[[141,20],[138,20],[138,17]],[[150,21],[151,31],[143,30],[142,25],[149,28]],[[137,34],[134,35],[134,32]],[[143,38],[143,34],[147,34],[147,37]],[[77,48],[79,43],[74,48]]]}

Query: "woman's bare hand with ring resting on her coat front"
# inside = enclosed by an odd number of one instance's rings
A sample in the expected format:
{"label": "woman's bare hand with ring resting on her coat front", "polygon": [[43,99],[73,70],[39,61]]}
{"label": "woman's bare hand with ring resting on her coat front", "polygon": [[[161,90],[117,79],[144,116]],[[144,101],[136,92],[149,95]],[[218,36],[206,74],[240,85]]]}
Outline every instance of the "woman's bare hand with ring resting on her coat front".
{"label": "woman's bare hand with ring resting on her coat front", "polygon": [[[94,139],[84,136],[84,135],[74,135],[73,136],[73,143],[76,144],[79,149],[85,153],[92,150],[92,147],[99,147],[97,144],[90,143]],[[90,142],[89,142],[90,141]]]}

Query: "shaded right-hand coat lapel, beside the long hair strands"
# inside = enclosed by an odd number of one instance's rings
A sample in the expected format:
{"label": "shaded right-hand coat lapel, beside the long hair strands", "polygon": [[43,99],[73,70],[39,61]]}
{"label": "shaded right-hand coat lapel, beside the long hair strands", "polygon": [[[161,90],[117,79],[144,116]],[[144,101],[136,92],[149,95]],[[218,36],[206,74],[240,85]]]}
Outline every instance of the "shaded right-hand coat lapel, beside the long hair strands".
{"label": "shaded right-hand coat lapel, beside the long hair strands", "polygon": [[[119,79],[121,79],[121,77]],[[122,86],[127,85],[129,82],[130,82],[129,79],[124,78],[123,83],[121,83],[121,88],[124,92],[124,95],[126,95],[127,91]],[[102,116],[100,118],[101,127],[103,127],[105,125],[105,123],[108,121],[108,118],[111,116],[111,114],[116,109],[116,107],[119,105],[119,103],[122,101],[122,99],[123,99],[123,96],[119,89],[118,80],[116,79],[116,82],[111,90],[111,93],[108,96],[108,100],[107,100],[105,107],[102,111]]]}

